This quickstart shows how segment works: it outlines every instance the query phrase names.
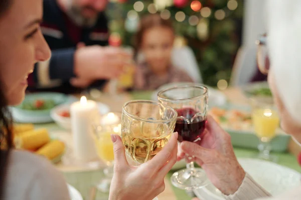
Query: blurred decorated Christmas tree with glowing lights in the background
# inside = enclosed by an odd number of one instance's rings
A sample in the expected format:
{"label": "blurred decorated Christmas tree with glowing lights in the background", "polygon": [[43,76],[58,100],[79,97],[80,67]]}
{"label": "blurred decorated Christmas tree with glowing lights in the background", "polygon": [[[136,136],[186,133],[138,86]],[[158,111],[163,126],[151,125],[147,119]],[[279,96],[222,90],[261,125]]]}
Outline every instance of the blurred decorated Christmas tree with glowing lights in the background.
{"label": "blurred decorated Christmas tree with glowing lights in the background", "polygon": [[110,0],[110,43],[132,45],[139,17],[160,13],[171,18],[175,45],[189,45],[195,52],[204,83],[228,82],[241,42],[243,0]]}

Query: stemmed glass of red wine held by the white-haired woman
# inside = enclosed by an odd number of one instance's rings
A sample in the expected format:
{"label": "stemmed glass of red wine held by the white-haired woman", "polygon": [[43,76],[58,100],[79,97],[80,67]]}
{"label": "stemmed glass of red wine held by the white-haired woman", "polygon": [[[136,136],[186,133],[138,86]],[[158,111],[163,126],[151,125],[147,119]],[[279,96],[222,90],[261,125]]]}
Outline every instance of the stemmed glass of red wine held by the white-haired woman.
{"label": "stemmed glass of red wine held by the white-haired woman", "polygon": [[[175,131],[178,140],[199,142],[202,140],[208,107],[208,88],[200,84],[178,85],[159,91],[158,99],[178,112]],[[175,172],[172,177],[174,186],[186,190],[206,186],[209,180],[201,168],[194,167],[193,156],[187,155],[186,169]]]}

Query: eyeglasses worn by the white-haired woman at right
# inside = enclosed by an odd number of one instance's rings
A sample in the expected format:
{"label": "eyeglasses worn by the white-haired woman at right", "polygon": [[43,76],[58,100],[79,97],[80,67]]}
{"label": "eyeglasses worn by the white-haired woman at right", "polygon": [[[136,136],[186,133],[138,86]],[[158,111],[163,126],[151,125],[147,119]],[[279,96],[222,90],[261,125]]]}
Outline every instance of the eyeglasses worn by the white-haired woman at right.
{"label": "eyeglasses worn by the white-haired woman at right", "polygon": [[256,40],[257,44],[257,66],[261,73],[267,74],[269,71],[269,58],[267,53],[267,46],[266,46],[267,36],[266,33],[259,36]]}

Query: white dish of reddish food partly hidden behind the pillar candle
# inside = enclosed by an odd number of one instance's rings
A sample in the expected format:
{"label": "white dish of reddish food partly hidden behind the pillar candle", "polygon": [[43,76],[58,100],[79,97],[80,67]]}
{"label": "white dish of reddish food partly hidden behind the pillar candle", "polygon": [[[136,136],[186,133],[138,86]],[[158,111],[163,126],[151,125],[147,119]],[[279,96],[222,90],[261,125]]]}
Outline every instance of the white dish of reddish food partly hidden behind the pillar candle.
{"label": "white dish of reddish food partly hidden behind the pillar candle", "polygon": [[[104,103],[97,102],[98,110],[101,115],[106,114],[110,111],[108,105]],[[54,107],[51,110],[52,119],[61,127],[70,130],[71,129],[71,119],[70,119],[70,107],[71,104],[62,104]]]}

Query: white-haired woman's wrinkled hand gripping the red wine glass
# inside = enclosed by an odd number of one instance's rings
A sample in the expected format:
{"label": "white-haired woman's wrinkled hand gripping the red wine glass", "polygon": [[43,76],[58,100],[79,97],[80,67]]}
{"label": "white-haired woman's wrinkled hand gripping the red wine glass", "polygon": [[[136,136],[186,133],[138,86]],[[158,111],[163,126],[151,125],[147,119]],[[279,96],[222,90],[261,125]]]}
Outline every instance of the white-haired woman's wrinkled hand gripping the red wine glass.
{"label": "white-haired woman's wrinkled hand gripping the red wine glass", "polygon": [[231,144],[231,136],[208,116],[206,130],[200,144],[183,141],[178,159],[185,153],[194,155],[210,181],[224,194],[233,194],[242,183],[245,171],[238,163]]}

